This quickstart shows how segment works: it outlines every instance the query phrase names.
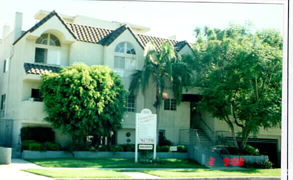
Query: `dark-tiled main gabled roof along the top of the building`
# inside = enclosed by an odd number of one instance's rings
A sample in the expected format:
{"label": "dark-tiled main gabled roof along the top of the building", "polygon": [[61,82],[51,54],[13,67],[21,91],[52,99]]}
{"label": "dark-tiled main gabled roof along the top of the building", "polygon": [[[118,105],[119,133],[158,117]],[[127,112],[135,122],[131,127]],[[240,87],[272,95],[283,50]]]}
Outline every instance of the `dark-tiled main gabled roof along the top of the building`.
{"label": "dark-tiled main gabled roof along the top of the building", "polygon": [[[88,25],[80,25],[80,24],[74,24],[65,22],[58,13],[56,13],[54,10],[50,12],[47,16],[45,16],[43,19],[41,19],[38,23],[36,23],[34,26],[32,26],[30,29],[28,29],[24,34],[22,34],[14,43],[13,45],[27,32],[32,32],[37,27],[42,25],[44,22],[46,22],[48,19],[50,19],[52,16],[56,15],[58,19],[64,24],[66,29],[73,35],[73,37],[76,40],[83,41],[83,42],[90,42],[90,43],[98,43],[102,45],[109,45],[111,44],[122,32],[124,32],[126,29],[128,29],[133,37],[137,40],[137,42],[140,44],[140,46],[144,49],[146,44],[149,41],[153,41],[155,44],[155,49],[159,50],[160,45],[164,41],[169,41],[171,44],[174,45],[176,48],[176,51],[180,51],[181,48],[187,43],[186,41],[177,41],[172,39],[166,39],[166,38],[160,38],[160,37],[154,37],[149,35],[143,35],[143,34],[135,34],[132,29],[129,27],[129,25],[124,24],[120,27],[118,27],[115,30],[105,29],[105,28],[99,28],[99,27],[92,27]],[[187,43],[188,46],[191,48],[191,45]]]}

